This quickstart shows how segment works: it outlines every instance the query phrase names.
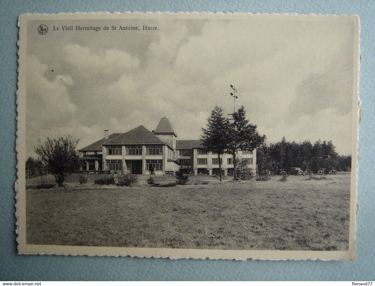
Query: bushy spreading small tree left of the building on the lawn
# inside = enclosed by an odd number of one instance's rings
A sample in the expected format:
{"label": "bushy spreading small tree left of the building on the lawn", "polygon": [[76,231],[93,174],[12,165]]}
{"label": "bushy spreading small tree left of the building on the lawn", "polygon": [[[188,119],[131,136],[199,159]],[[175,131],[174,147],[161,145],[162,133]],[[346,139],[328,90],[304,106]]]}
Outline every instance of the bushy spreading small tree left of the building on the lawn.
{"label": "bushy spreading small tree left of the building on the lawn", "polygon": [[80,163],[75,147],[78,140],[68,137],[59,137],[58,139],[49,139],[35,147],[36,154],[46,166],[46,169],[55,177],[59,187],[70,174],[78,171]]}

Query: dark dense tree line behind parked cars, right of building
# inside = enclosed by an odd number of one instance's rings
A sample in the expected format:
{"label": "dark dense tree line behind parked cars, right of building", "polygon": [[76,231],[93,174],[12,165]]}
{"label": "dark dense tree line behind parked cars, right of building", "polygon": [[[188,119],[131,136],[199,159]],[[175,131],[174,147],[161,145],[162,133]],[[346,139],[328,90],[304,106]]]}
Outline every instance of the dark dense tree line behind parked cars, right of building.
{"label": "dark dense tree line behind parked cars, right of building", "polygon": [[351,156],[339,155],[332,141],[320,140],[312,144],[288,142],[285,137],[276,144],[263,144],[257,149],[258,173],[273,172],[278,174],[284,169],[288,174],[293,167],[316,173],[320,168],[337,168],[337,171],[350,171]]}

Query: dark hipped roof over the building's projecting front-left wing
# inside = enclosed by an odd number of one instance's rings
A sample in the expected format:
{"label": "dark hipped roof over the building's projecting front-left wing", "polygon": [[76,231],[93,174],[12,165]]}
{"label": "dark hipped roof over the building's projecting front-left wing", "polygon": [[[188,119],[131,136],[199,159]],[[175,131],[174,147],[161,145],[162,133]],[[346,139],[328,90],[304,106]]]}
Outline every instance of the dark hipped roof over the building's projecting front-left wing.
{"label": "dark hipped roof over the building's projecting front-left wing", "polygon": [[166,144],[156,137],[152,132],[148,131],[143,125],[139,125],[134,129],[122,133],[117,137],[108,140],[103,145],[108,144]]}

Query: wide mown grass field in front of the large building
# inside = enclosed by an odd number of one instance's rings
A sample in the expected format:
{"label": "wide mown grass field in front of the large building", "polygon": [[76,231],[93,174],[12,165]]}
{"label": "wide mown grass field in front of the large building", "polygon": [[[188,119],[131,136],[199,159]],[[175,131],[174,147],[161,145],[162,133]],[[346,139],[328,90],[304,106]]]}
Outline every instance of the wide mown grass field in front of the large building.
{"label": "wide mown grass field in front of the large building", "polygon": [[[71,175],[65,189],[27,180],[28,244],[194,249],[347,250],[350,174],[306,180],[96,186]],[[171,176],[155,181],[171,181]],[[202,181],[210,181],[203,183]],[[45,183],[53,183],[47,176]]]}

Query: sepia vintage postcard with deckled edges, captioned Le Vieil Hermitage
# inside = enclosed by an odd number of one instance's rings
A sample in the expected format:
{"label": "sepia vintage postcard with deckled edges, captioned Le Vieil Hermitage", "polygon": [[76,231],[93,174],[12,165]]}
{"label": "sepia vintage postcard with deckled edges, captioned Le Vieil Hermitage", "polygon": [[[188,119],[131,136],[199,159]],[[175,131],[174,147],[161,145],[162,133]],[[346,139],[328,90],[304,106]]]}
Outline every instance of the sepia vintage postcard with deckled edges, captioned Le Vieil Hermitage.
{"label": "sepia vintage postcard with deckled edges, captioned Le Vieil Hermitage", "polygon": [[19,28],[20,254],[356,258],[357,15]]}

